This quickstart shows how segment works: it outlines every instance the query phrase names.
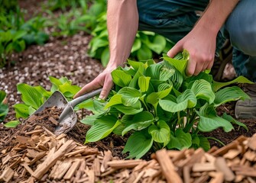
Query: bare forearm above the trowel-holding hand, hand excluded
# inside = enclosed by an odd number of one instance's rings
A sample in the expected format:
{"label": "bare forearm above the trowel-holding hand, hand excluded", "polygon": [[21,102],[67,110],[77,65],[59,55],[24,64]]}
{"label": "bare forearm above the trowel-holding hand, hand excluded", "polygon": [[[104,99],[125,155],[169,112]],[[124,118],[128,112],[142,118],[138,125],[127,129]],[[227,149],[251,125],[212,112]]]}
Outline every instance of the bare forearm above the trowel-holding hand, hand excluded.
{"label": "bare forearm above the trowel-holding hand, hand excluded", "polygon": [[110,59],[108,66],[122,66],[131,53],[138,30],[136,0],[109,0],[107,11]]}

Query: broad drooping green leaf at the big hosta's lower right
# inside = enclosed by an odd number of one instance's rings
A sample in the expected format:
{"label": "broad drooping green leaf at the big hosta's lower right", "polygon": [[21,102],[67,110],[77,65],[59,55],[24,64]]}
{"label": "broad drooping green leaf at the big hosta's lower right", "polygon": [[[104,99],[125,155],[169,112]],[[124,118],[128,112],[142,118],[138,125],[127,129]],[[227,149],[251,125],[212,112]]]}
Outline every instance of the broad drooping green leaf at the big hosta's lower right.
{"label": "broad drooping green leaf at the big hosta's lower right", "polygon": [[233,130],[232,124],[228,121],[223,119],[222,117],[218,116],[200,116],[198,129],[203,132],[209,132],[215,130],[219,127],[222,127],[225,132],[229,132]]}

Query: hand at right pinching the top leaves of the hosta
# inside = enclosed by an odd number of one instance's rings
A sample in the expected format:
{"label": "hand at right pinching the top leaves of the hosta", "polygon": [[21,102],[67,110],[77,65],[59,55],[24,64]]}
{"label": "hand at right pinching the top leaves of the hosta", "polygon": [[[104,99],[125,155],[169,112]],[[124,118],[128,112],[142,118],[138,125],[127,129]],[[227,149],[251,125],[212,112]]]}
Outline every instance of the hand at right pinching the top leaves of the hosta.
{"label": "hand at right pinching the top leaves of the hosta", "polygon": [[167,56],[173,58],[177,53],[188,50],[190,59],[186,66],[186,75],[198,75],[206,69],[211,69],[216,47],[216,35],[204,30],[202,27],[194,27],[186,37],[169,50]]}

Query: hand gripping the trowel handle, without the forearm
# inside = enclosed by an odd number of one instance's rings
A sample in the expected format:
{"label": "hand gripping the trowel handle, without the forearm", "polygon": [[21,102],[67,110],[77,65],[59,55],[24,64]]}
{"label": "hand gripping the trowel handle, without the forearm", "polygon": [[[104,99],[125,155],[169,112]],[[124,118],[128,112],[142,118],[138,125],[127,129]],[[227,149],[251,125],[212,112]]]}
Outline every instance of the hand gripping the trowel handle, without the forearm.
{"label": "hand gripping the trowel handle, without the forearm", "polygon": [[73,98],[77,98],[81,95],[84,95],[88,92],[92,92],[98,88],[102,87],[102,92],[99,95],[99,98],[105,100],[108,97],[109,92],[112,88],[113,81],[111,72],[116,69],[116,66],[108,66],[102,73],[100,73],[96,79],[93,79],[92,82],[89,82],[87,85],[83,86],[79,92]]}

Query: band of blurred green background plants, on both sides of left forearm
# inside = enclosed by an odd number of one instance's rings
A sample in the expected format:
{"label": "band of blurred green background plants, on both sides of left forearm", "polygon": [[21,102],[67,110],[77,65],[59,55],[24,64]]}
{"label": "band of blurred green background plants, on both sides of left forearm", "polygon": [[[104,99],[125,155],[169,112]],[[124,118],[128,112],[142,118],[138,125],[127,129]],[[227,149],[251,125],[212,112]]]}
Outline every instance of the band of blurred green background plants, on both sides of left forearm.
{"label": "band of blurred green background plants, on both sides of left forearm", "polygon": [[[46,43],[48,34],[66,37],[81,31],[92,35],[89,56],[100,59],[106,66],[109,62],[106,4],[106,0],[48,0],[41,4],[41,14],[25,21],[25,13],[19,8],[17,0],[0,0],[0,68],[11,65],[13,52],[21,52],[32,44]],[[138,31],[130,57],[152,59],[167,53],[172,46],[170,40],[160,35]]]}

